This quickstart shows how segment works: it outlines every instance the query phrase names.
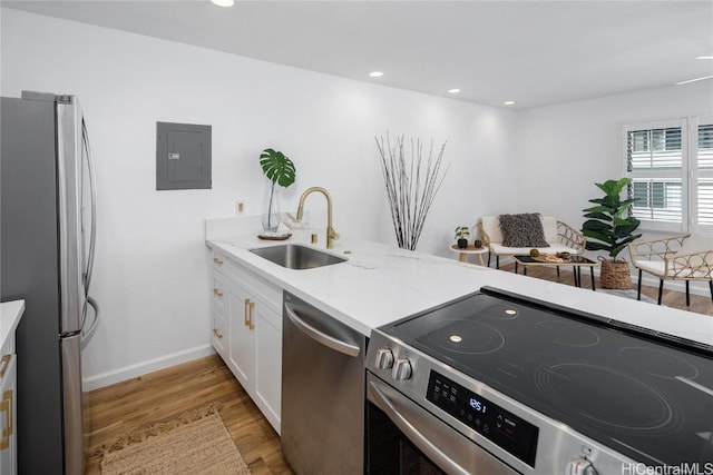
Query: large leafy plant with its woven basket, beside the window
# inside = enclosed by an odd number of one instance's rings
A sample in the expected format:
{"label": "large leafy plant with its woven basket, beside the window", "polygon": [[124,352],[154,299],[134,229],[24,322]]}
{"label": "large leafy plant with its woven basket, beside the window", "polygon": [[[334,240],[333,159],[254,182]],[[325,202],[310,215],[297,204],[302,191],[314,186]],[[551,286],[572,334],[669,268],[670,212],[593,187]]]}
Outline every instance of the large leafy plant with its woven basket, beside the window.
{"label": "large leafy plant with its woven basket, beside the window", "polygon": [[588,238],[586,249],[605,250],[609,255],[609,259],[599,256],[602,261],[599,283],[603,288],[627,289],[632,286],[628,263],[617,259],[626,245],[642,236],[634,234],[641,224],[638,219],[631,216],[634,199],[622,200],[621,198],[622,190],[631,181],[631,178],[622,178],[595,184],[604,191],[604,197],[590,199],[589,202],[594,202],[595,206],[583,210],[584,217],[587,218],[582,226],[582,234]]}

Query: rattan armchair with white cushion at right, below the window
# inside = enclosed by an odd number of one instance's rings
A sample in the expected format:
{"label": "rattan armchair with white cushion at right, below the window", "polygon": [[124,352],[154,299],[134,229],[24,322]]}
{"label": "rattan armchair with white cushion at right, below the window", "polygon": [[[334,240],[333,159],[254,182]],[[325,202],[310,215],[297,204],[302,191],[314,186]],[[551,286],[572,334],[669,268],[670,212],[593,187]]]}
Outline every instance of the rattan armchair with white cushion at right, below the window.
{"label": "rattan armchair with white cushion at right, below the window", "polygon": [[632,265],[638,269],[638,300],[642,298],[642,271],[658,277],[658,305],[664,280],[685,280],[686,306],[691,305],[691,280],[707,280],[713,299],[713,237],[683,234],[663,239],[634,241],[627,247]]}

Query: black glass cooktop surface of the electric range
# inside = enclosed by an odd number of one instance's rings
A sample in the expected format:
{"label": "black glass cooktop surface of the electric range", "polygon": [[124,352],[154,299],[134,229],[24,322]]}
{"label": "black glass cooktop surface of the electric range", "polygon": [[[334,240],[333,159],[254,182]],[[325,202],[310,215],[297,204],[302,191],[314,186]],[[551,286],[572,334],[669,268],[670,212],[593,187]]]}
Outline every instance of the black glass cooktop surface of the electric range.
{"label": "black glass cooktop surface of the electric range", "polygon": [[713,463],[713,353],[484,288],[383,328],[649,465]]}

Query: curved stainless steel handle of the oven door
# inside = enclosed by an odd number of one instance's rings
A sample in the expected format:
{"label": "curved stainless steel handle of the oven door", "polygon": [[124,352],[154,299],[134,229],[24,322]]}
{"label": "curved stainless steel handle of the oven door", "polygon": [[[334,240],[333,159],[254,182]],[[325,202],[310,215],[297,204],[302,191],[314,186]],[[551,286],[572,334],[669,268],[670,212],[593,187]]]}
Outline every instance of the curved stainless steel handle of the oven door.
{"label": "curved stainless steel handle of the oven door", "polygon": [[[439,467],[449,474],[470,475],[470,472],[458,465],[448,457],[437,446],[419,432],[417,427],[409,422],[408,417],[402,415],[387,394],[381,389],[382,384],[375,379],[369,380],[369,396],[374,398],[373,403],[383,410],[393,424],[411,441],[419,449]],[[384,385],[385,386],[385,385]],[[384,387],[385,388],[385,387]],[[404,409],[408,409],[404,407]]]}

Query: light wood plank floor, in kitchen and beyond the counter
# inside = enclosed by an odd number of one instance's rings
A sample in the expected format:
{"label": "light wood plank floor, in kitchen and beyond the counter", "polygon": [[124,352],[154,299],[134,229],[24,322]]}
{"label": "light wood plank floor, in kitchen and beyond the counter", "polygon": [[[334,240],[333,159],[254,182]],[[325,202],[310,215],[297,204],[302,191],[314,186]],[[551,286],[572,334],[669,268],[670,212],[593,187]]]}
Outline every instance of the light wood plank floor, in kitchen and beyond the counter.
{"label": "light wood plank floor, in kitchen and beyond the counter", "polygon": [[[511,271],[512,267],[504,266],[502,270]],[[555,270],[547,268],[530,267],[528,276],[557,280]],[[583,273],[582,280],[583,287],[590,288],[588,273]],[[559,281],[574,285],[572,271],[563,270]],[[656,298],[658,289],[644,287],[643,293]],[[664,289],[663,303],[686,309],[682,293]],[[691,295],[690,310],[713,315],[711,297]],[[223,405],[223,422],[253,474],[293,473],[282,456],[277,434],[217,355],[90,393],[90,444],[105,444],[141,425],[216,400]],[[99,458],[90,459],[86,473],[99,474]]]}

